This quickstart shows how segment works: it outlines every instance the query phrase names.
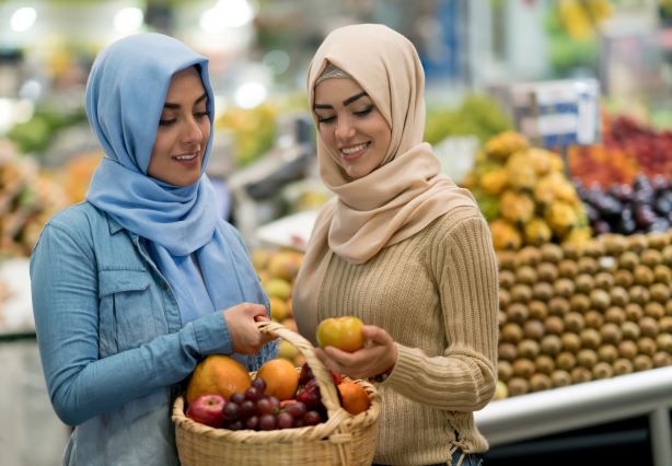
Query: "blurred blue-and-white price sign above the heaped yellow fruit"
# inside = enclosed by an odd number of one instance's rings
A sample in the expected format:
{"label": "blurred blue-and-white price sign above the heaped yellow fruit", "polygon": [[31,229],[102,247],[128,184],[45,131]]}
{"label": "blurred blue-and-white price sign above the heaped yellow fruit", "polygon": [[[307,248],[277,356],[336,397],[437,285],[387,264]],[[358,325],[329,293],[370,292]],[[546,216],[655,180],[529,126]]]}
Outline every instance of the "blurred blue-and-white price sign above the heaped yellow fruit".
{"label": "blurred blue-and-white price sign above the heaped yellow fruit", "polygon": [[507,101],[518,129],[546,148],[600,138],[600,84],[594,79],[512,84]]}

